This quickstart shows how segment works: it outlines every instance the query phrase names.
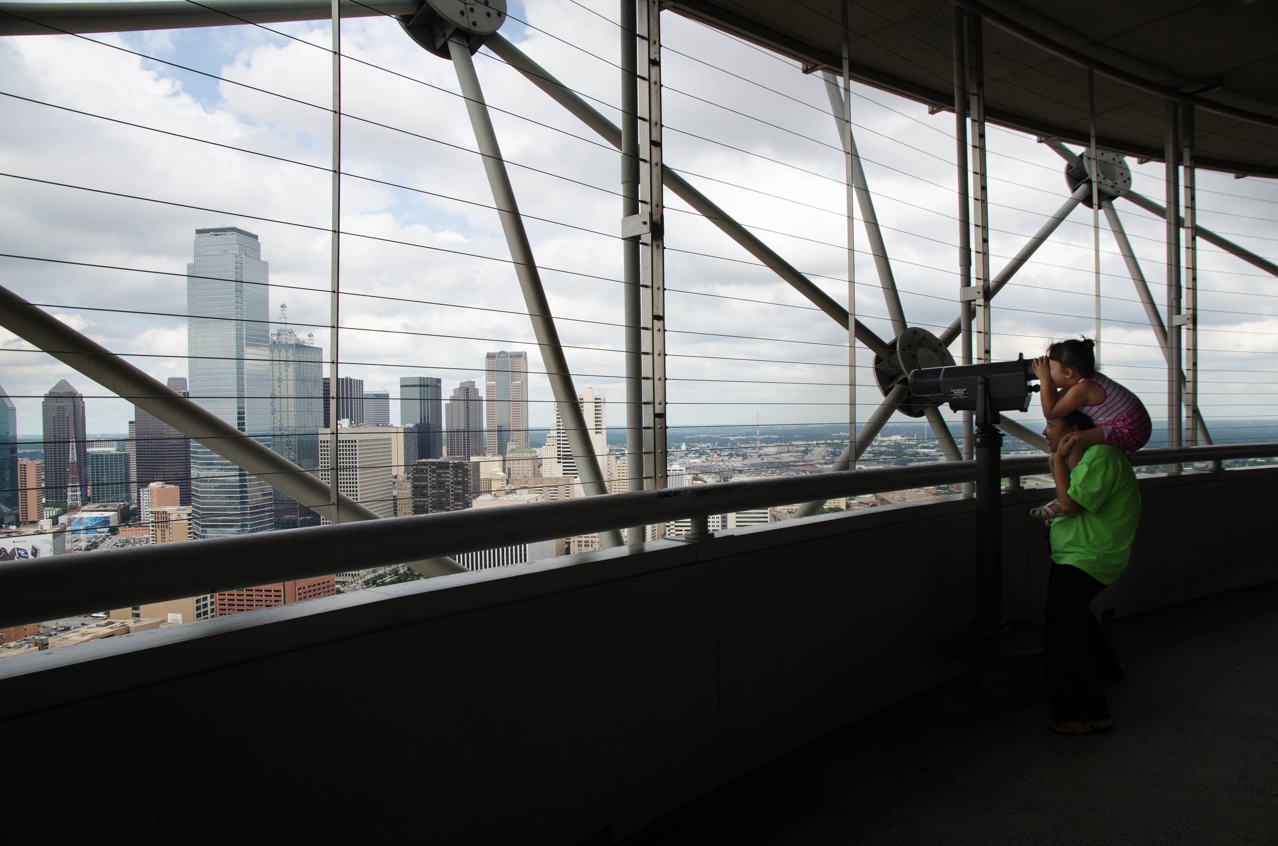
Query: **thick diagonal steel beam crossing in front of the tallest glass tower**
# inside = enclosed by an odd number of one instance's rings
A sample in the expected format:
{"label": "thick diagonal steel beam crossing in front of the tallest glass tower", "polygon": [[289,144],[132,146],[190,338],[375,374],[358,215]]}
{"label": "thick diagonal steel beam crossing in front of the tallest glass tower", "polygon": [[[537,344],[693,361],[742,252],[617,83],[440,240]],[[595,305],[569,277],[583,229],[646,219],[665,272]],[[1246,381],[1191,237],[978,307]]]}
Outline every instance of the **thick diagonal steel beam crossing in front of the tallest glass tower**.
{"label": "thick diagonal steel beam crossing in front of the tallest glass tower", "polygon": [[[0,326],[320,516],[334,523],[377,519],[368,506],[341,495],[341,510],[335,510],[331,488],[318,478],[5,288],[0,288]],[[413,567],[423,575],[465,571],[451,558],[418,561]],[[248,584],[256,583],[230,587]]]}

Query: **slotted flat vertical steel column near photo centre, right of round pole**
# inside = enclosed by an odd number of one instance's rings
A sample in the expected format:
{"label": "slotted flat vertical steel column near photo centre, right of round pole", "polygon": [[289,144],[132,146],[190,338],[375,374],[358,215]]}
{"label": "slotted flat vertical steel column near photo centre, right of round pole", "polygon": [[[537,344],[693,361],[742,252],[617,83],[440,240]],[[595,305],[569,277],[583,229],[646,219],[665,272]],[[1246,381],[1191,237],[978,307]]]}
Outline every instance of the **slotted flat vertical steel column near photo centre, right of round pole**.
{"label": "slotted flat vertical steel column near photo centre, right of round pole", "polygon": [[666,487],[666,234],[661,150],[661,0],[640,0],[639,37],[647,40],[648,96],[639,130],[639,204],[648,220],[640,236],[644,477]]}

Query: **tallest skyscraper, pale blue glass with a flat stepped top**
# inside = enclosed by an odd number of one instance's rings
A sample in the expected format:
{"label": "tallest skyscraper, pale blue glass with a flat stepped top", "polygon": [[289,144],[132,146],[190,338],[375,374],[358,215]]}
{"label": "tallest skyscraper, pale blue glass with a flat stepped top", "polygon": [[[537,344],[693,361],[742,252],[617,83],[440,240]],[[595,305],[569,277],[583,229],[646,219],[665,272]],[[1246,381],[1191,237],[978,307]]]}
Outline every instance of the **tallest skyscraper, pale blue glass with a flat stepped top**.
{"label": "tallest skyscraper, pale blue glass with a flat stepped top", "polygon": [[[187,362],[192,401],[266,445],[271,440],[267,280],[257,235],[196,230],[187,265]],[[190,447],[196,538],[266,532],[271,488],[208,449]],[[166,479],[165,479],[166,481]]]}

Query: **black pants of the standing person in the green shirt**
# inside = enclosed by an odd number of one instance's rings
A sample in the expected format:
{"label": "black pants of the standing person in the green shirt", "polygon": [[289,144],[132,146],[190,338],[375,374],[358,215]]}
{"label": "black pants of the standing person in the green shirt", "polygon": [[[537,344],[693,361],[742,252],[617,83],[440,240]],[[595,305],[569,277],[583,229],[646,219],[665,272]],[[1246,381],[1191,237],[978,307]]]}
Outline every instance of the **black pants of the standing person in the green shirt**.
{"label": "black pants of the standing person in the green shirt", "polygon": [[1105,585],[1068,564],[1053,564],[1047,584],[1043,668],[1053,722],[1109,718],[1102,677],[1121,672],[1118,656],[1091,613]]}

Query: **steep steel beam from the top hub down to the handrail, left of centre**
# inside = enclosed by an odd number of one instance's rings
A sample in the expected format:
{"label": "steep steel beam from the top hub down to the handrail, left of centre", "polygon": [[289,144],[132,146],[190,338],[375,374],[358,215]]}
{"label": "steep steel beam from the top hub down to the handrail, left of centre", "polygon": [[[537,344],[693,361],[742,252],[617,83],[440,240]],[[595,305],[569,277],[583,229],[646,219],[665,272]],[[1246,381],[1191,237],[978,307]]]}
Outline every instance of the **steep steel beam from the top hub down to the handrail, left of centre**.
{"label": "steep steel beam from the top hub down to the handrail, left of centre", "polygon": [[[479,87],[474,61],[470,59],[470,50],[459,36],[454,36],[449,40],[449,52],[458,74],[458,84],[466,101],[470,127],[474,129],[475,143],[483,157],[484,173],[488,176],[493,204],[497,207],[497,216],[506,235],[506,245],[510,248],[515,276],[519,279],[528,317],[533,323],[537,345],[542,353],[546,377],[551,383],[555,405],[564,420],[567,442],[573,450],[573,460],[576,461],[576,470],[581,478],[581,488],[587,496],[607,493],[608,488],[603,473],[599,470],[599,458],[594,454],[594,445],[585,426],[585,415],[581,413],[576,387],[573,385],[573,374],[567,368],[567,359],[564,357],[564,348],[560,344],[558,330],[555,327],[550,302],[546,299],[541,275],[537,272],[533,248],[528,242],[523,217],[519,215],[519,203],[515,201],[515,190],[510,185],[506,162],[501,157],[497,133],[492,128],[492,119],[483,98],[483,89]],[[616,530],[599,534],[599,546],[603,548],[621,546],[621,534]]]}

